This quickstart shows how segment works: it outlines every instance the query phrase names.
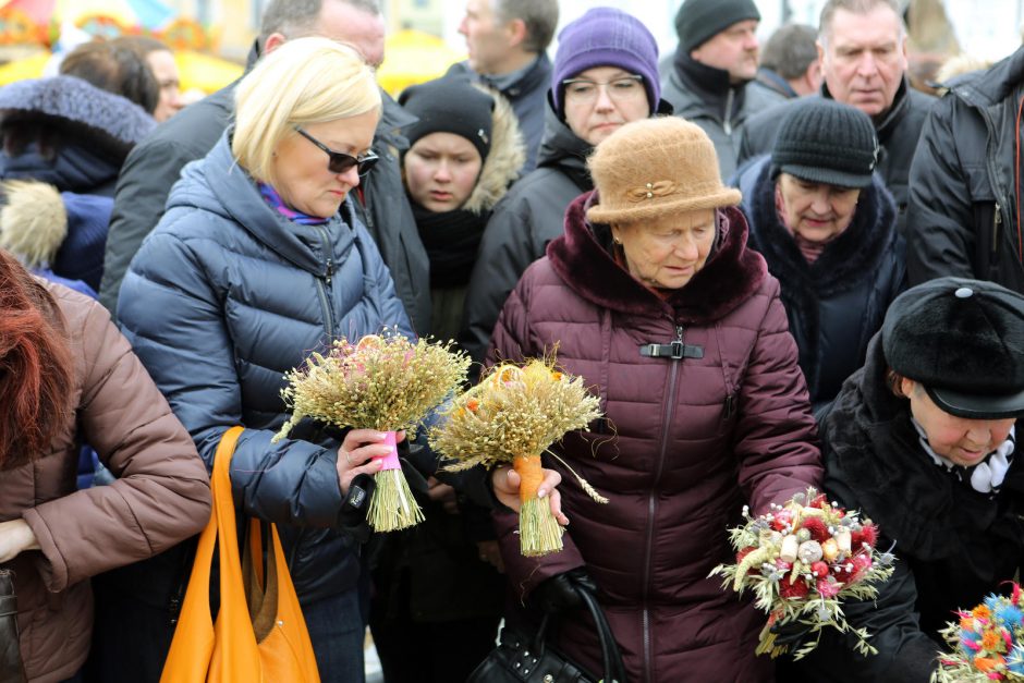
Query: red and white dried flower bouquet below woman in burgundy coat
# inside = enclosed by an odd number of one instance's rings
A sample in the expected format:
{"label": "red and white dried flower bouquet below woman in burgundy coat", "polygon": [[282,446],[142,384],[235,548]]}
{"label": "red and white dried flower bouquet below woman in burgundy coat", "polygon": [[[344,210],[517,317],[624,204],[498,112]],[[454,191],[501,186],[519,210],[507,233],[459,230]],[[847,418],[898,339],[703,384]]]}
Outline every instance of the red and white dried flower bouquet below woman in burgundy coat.
{"label": "red and white dried flower bouquet below woman in burgundy coat", "polygon": [[736,563],[719,564],[709,575],[723,576],[722,587],[736,593],[751,590],[754,605],[768,613],[755,651],[772,658],[789,651],[790,645],[776,642],[778,629],[789,625],[808,637],[794,659],[818,645],[825,626],[856,635],[863,655],[877,654],[867,631],[851,626],[841,606],[877,597],[875,584],[892,575],[893,556],[875,548],[877,527],[814,488],[757,517],[744,507],[743,516],[746,523],[730,529]]}

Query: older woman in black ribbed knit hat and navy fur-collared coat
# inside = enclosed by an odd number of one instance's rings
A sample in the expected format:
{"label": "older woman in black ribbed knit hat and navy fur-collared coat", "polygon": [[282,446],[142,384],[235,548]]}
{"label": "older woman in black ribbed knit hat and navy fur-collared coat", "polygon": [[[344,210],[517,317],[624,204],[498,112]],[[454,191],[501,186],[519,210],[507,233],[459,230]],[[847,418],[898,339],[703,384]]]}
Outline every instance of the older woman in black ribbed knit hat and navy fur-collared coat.
{"label": "older woman in black ribbed knit hat and navy fur-collared coat", "polygon": [[864,364],[905,288],[895,204],[874,174],[877,148],[867,114],[812,99],[783,121],[771,155],[740,169],[734,183],[751,246],[782,284],[816,414]]}

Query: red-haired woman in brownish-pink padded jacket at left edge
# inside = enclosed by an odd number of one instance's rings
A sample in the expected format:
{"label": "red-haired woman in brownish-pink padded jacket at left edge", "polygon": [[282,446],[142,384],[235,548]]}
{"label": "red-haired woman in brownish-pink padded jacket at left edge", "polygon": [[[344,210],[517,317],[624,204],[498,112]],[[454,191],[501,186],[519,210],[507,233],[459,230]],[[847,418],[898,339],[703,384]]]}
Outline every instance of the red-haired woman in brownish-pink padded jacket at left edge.
{"label": "red-haired woman in brownish-pink padded jacket at left edge", "polygon": [[[0,569],[12,570],[29,681],[72,679],[93,623],[89,577],[203,528],[195,446],[96,302],[0,251]],[[118,475],[76,490],[87,439]]]}

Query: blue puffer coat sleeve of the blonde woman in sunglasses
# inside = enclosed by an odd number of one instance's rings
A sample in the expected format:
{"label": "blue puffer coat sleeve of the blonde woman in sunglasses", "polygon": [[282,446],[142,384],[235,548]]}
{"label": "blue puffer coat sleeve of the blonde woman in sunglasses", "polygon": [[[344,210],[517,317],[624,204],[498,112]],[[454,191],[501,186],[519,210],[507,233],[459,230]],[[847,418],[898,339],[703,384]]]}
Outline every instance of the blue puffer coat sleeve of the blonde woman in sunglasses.
{"label": "blue puffer coat sleeve of the blonde woman in sunglasses", "polygon": [[[164,219],[166,220],[166,219]],[[175,220],[203,220],[199,211]],[[147,240],[125,276],[121,324],[139,358],[192,435],[207,466],[221,436],[243,425],[242,391],[220,295],[199,253],[221,247],[167,232]],[[216,266],[214,266],[216,268]],[[407,327],[407,321],[404,324]],[[246,428],[231,462],[236,502],[269,522],[343,527],[336,449]]]}

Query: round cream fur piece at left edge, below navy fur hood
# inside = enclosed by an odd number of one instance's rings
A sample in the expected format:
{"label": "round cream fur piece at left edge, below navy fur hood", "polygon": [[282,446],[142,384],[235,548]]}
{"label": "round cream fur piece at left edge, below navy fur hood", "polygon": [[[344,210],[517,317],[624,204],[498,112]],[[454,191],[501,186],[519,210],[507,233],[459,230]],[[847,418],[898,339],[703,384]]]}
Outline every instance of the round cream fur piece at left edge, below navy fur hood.
{"label": "round cream fur piece at left edge, below navy fur hood", "polygon": [[0,247],[28,268],[49,266],[68,236],[68,210],[57,187],[11,180],[2,191],[7,204],[0,209]]}

